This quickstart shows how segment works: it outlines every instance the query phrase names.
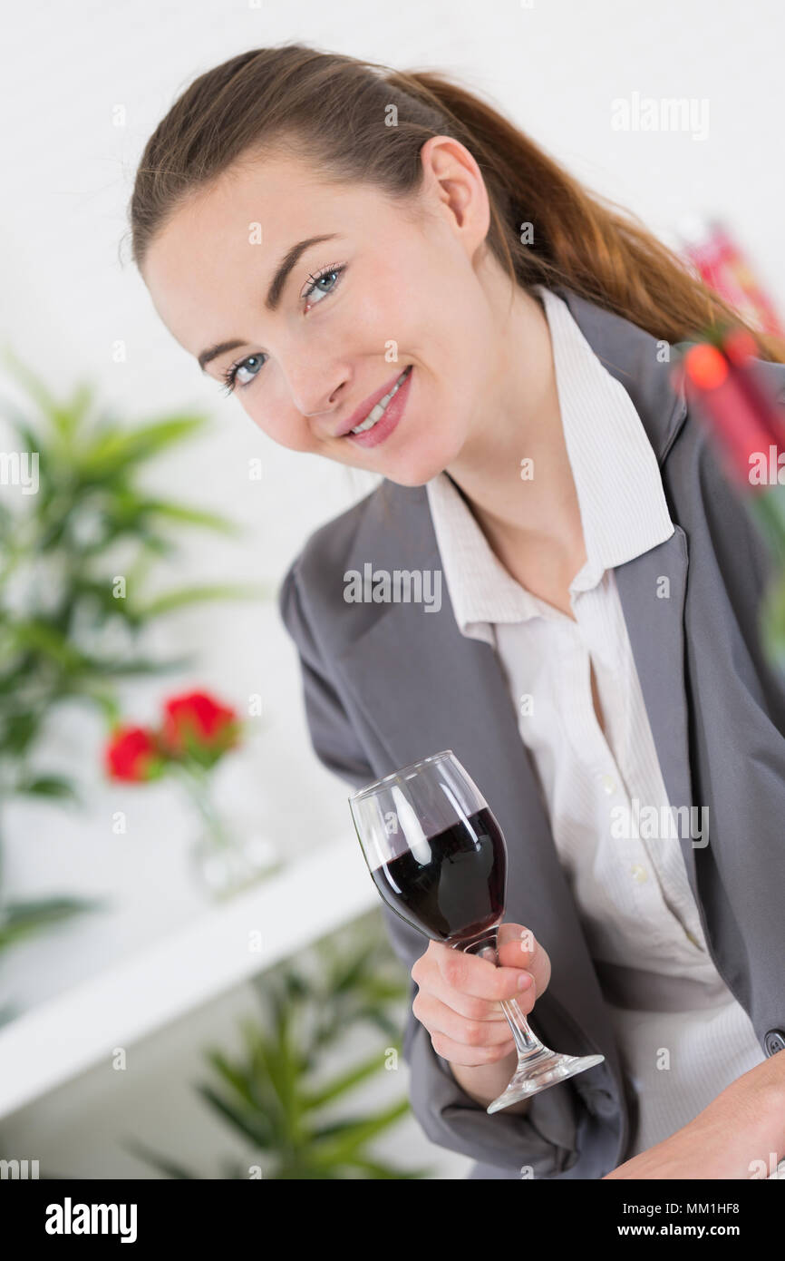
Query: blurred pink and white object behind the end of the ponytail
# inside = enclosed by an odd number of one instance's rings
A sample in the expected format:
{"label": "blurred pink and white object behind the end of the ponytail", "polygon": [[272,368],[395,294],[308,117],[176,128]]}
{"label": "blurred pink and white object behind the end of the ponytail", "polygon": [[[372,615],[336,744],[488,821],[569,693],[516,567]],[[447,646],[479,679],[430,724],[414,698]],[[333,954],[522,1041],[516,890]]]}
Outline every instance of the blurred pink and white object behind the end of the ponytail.
{"label": "blurred pink and white object behind the end of the ponytail", "polygon": [[677,226],[682,252],[701,279],[761,333],[785,337],[774,303],[757,281],[750,261],[718,219],[693,216]]}

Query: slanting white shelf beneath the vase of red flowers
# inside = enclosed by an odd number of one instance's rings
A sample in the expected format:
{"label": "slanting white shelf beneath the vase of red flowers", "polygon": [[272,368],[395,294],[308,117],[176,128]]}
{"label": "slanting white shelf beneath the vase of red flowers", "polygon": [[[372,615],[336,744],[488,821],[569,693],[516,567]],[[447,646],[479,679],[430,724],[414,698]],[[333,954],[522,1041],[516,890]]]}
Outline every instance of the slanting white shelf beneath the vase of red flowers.
{"label": "slanting white shelf beneath the vase of red flowers", "polygon": [[[0,1028],[0,1116],[378,904],[343,837]],[[252,934],[261,934],[257,944]]]}

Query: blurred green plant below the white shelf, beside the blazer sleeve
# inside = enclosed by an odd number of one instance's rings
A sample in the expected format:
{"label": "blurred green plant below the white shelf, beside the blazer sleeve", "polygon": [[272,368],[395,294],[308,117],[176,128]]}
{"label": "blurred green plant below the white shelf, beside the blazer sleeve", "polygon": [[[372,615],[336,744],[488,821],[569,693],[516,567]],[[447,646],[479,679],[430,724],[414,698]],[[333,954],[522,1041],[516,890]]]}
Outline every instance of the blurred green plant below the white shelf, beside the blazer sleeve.
{"label": "blurred green plant below the white shelf, beside the blazer sleeve", "polygon": [[[224,1163],[224,1177],[247,1179],[251,1165],[276,1180],[427,1177],[428,1169],[394,1169],[368,1151],[408,1113],[406,1098],[370,1116],[335,1111],[360,1082],[384,1072],[391,1052],[399,1054],[399,1019],[393,1013],[401,1016],[407,984],[383,933],[381,912],[323,939],[296,966],[287,962],[265,973],[256,987],[261,1021],[242,1021],[239,1055],[207,1052],[218,1084],[198,1087],[249,1146],[247,1161]],[[340,1049],[362,1024],[377,1028],[384,1043],[325,1079],[325,1054]],[[136,1139],[125,1146],[169,1178],[202,1177]]]}

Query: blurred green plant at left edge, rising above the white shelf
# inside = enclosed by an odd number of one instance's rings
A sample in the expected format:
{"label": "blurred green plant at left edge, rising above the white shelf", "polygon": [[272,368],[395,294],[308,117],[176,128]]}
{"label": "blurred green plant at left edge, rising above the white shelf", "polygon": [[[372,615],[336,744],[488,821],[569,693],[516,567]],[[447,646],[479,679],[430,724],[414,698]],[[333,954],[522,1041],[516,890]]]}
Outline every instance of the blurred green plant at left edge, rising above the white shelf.
{"label": "blurred green plant at left edge, rising above the white shelf", "polygon": [[[121,680],[192,663],[140,651],[152,622],[203,600],[270,593],[262,585],[213,583],[149,594],[154,565],[175,551],[183,528],[237,533],[223,517],[161,498],[140,483],[145,465],[194,436],[207,417],[171,415],[130,427],[98,405],[91,385],[57,400],[8,349],[5,361],[34,411],[30,416],[10,400],[1,402],[23,450],[0,453],[0,801],[77,802],[73,777],[34,768],[59,706],[86,704],[107,725],[116,723]],[[35,478],[14,493],[8,483],[19,480],[23,456]],[[1,874],[0,861],[0,885]],[[0,889],[0,948],[95,905],[77,898],[14,904]]]}

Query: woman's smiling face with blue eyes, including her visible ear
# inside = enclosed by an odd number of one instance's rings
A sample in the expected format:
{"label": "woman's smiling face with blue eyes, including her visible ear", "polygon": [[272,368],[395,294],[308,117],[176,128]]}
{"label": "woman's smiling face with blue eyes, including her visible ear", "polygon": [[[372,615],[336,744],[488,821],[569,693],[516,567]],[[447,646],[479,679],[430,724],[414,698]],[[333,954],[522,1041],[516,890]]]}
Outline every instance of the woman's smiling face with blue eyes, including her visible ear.
{"label": "woman's smiling face with blue eyes, including her visible ear", "polygon": [[[483,179],[446,136],[421,160],[407,207],[294,156],[238,164],[178,209],[142,267],[175,339],[273,441],[402,485],[488,425],[498,381]],[[329,240],[304,248],[314,237]],[[404,369],[378,422],[347,436]]]}

